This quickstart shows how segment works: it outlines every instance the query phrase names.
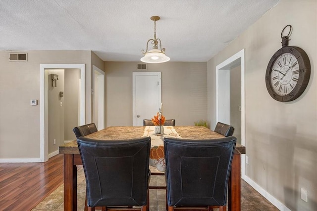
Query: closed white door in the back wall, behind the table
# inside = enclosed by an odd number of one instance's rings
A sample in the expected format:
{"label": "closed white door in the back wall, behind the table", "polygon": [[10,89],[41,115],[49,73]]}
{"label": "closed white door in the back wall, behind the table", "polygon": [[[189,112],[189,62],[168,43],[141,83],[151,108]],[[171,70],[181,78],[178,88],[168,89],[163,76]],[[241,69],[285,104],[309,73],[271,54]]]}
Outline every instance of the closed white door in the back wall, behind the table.
{"label": "closed white door in the back wall, behind the table", "polygon": [[159,112],[161,103],[161,73],[133,72],[133,126],[143,126]]}

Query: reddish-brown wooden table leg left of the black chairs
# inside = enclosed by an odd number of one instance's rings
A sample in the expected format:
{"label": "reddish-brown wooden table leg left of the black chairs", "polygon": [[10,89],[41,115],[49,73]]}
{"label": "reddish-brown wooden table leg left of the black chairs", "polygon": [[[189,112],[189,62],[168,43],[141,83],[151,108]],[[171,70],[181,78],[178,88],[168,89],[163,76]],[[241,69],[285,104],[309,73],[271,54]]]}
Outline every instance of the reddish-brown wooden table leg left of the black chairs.
{"label": "reddish-brown wooden table leg left of the black chairs", "polygon": [[64,154],[64,211],[77,211],[77,167],[73,154]]}

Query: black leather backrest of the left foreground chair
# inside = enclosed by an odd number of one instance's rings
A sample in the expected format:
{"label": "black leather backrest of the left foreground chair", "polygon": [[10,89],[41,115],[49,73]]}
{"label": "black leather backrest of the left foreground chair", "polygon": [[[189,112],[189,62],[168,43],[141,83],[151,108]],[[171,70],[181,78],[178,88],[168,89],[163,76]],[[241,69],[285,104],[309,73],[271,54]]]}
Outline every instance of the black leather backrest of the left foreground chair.
{"label": "black leather backrest of the left foreground chair", "polygon": [[147,203],[150,137],[131,140],[77,139],[88,207]]}

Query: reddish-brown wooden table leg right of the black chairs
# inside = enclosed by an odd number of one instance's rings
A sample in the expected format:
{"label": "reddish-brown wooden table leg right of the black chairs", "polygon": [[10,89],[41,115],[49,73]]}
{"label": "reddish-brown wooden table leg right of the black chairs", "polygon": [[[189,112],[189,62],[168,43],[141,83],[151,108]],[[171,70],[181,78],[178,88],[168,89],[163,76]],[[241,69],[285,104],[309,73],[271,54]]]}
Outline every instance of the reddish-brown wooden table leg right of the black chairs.
{"label": "reddish-brown wooden table leg right of the black chairs", "polygon": [[241,210],[241,154],[234,154],[228,188],[228,210]]}

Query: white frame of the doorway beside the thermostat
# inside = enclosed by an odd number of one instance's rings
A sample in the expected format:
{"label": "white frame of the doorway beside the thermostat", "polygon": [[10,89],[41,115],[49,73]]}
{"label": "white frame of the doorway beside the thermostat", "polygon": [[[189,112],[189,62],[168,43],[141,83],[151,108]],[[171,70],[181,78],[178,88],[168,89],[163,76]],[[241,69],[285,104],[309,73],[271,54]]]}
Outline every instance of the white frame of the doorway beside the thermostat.
{"label": "white frame of the doorway beside the thermostat", "polygon": [[40,162],[49,159],[48,93],[45,91],[46,69],[80,69],[79,113],[80,125],[85,124],[85,64],[40,64]]}

